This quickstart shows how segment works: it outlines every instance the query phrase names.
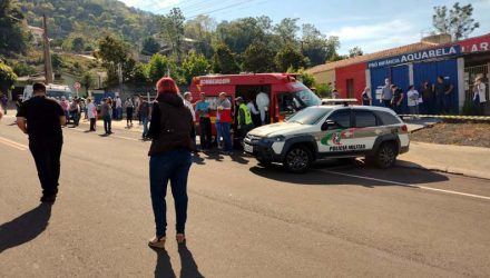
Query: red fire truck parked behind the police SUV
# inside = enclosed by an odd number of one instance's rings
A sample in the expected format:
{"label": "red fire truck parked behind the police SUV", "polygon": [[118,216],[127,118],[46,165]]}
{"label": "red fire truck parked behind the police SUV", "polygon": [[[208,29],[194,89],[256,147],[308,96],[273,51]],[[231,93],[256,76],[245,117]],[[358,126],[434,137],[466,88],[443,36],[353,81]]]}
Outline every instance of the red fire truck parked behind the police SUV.
{"label": "red fire truck parked behind the police SUV", "polygon": [[259,92],[270,98],[268,122],[283,121],[305,107],[320,106],[322,100],[291,73],[243,73],[216,75],[195,77],[190,83],[194,101],[206,93],[209,102],[212,122],[215,122],[217,99],[220,92],[226,92],[234,103],[235,98],[246,101],[255,100]]}

